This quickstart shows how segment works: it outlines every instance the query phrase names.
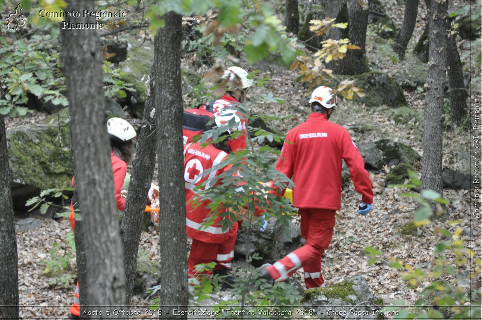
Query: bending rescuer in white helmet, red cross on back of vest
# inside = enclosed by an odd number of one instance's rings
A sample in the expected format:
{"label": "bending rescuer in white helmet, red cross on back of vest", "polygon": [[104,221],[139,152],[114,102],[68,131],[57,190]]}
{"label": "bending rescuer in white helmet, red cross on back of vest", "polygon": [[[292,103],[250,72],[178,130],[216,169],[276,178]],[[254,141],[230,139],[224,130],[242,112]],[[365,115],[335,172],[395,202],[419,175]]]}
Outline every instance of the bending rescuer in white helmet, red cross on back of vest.
{"label": "bending rescuer in white helmet, red cross on back of vest", "polygon": [[[205,200],[201,205],[193,205],[193,200],[197,198],[197,186],[207,183],[202,189],[214,187],[221,183],[218,181],[218,175],[226,172],[230,166],[223,166],[222,161],[228,157],[231,148],[228,146],[231,141],[231,134],[234,131],[241,131],[241,120],[232,110],[221,111],[214,115],[216,126],[228,127],[229,120],[231,123],[234,119],[236,127],[228,129],[226,138],[217,143],[211,143],[206,147],[201,147],[199,142],[188,144],[184,148],[184,180],[186,184],[186,227],[187,237],[192,238],[191,251],[187,259],[187,273],[191,278],[200,272],[196,271],[195,266],[199,264],[207,264],[215,262],[213,273],[222,276],[226,282],[232,283],[234,277],[227,276],[227,269],[231,267],[231,260],[234,256],[234,243],[236,242],[236,233],[238,231],[238,223],[233,221],[232,227],[229,229],[222,228],[221,221],[228,217],[218,216],[214,223],[209,227],[202,224],[210,214],[210,208],[207,207],[210,200]],[[220,134],[222,135],[222,134]],[[208,175],[203,174],[206,170],[214,168]],[[219,208],[219,213],[226,211]],[[202,273],[211,274],[210,271]],[[225,286],[225,288],[227,288]]]}

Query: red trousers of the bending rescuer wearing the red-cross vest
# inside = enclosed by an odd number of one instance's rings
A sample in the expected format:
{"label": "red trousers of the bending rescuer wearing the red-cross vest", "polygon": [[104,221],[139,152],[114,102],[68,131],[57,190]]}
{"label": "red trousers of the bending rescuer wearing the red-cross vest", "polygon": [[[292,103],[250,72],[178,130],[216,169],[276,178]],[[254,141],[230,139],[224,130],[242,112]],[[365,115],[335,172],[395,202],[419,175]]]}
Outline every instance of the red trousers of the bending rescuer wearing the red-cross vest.
{"label": "red trousers of the bending rescuer wearing the red-cross vest", "polygon": [[228,240],[222,243],[208,243],[193,239],[191,252],[187,258],[187,275],[192,277],[199,273],[211,274],[211,271],[196,271],[195,266],[215,262],[214,270],[231,267],[234,257],[234,243],[238,233],[239,224],[235,222],[228,231]]}

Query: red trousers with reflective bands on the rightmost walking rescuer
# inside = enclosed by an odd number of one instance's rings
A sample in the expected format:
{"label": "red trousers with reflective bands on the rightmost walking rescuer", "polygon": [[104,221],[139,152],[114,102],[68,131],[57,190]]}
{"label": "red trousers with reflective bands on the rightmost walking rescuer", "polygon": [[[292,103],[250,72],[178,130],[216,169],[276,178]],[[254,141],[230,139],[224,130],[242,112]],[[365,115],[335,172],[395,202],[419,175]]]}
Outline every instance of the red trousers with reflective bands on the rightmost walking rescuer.
{"label": "red trousers with reflective bands on the rightmost walking rescuer", "polygon": [[288,253],[267,270],[271,278],[282,281],[303,267],[307,289],[318,288],[324,282],[321,275],[321,255],[328,249],[333,236],[335,210],[299,209],[299,213],[301,236],[306,239],[305,245]]}

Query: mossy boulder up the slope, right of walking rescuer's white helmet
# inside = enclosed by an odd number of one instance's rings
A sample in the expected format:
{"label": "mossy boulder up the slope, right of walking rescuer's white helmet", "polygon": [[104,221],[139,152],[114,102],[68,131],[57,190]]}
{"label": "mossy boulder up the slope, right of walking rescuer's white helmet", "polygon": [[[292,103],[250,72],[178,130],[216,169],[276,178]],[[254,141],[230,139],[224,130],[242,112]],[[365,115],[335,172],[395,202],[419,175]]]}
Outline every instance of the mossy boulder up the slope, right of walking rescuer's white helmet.
{"label": "mossy boulder up the slope, right of walking rescuer's white helmet", "polygon": [[371,71],[353,77],[355,86],[365,93],[360,100],[367,107],[402,107],[407,104],[402,87],[385,73]]}

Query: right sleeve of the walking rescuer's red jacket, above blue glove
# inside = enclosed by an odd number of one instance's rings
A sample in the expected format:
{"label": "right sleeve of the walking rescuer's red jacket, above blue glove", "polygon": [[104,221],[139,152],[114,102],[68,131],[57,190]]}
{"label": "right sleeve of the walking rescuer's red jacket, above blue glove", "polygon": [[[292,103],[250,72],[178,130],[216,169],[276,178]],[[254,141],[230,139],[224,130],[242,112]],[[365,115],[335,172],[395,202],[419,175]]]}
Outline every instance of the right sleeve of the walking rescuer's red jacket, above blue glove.
{"label": "right sleeve of the walking rescuer's red jacket, above blue glove", "polygon": [[365,203],[373,203],[373,189],[370,175],[365,170],[365,163],[362,155],[355,143],[350,137],[348,131],[342,135],[342,157],[350,169],[351,181],[355,186],[355,190],[362,194],[362,201]]}

